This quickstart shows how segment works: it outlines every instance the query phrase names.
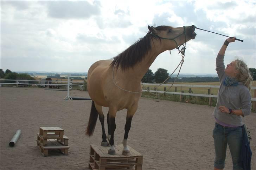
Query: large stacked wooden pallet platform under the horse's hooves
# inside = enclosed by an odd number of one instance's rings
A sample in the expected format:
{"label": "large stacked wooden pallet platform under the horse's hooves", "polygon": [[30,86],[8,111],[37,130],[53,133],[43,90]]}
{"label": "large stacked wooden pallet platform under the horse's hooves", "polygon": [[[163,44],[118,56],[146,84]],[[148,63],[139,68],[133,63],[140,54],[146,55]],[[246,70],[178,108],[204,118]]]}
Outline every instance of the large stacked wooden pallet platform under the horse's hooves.
{"label": "large stacked wooden pallet platform under the horse's hooves", "polygon": [[116,155],[109,155],[109,147],[100,145],[90,145],[90,161],[89,168],[92,170],[106,170],[106,169],[124,169],[134,168],[135,170],[142,170],[143,156],[128,146],[131,155],[122,155],[123,145],[116,145]]}

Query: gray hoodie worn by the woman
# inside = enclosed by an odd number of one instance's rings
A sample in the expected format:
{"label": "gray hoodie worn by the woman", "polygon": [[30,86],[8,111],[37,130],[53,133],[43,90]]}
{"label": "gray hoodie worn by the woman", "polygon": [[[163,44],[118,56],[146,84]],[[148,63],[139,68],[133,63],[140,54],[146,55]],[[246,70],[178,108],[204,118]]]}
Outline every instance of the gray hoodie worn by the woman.
{"label": "gray hoodie worn by the woman", "polygon": [[250,115],[251,93],[249,89],[241,82],[239,82],[237,86],[225,86],[223,84],[226,77],[224,70],[224,55],[218,54],[216,58],[216,71],[220,80],[220,86],[217,104],[212,115],[223,123],[242,126],[242,116],[222,113],[218,108],[219,106],[225,106],[229,109],[242,110],[244,116]]}

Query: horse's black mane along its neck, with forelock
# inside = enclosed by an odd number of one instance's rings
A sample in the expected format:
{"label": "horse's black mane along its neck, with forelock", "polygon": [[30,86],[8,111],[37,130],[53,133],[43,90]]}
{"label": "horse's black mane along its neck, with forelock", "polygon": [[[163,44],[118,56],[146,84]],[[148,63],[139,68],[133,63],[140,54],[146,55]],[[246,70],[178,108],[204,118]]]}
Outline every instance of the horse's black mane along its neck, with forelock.
{"label": "horse's black mane along its neck, with forelock", "polygon": [[[167,30],[169,28],[172,28],[170,26],[157,26],[155,27],[155,30]],[[152,38],[158,38],[151,34],[149,31],[143,38],[140,38],[137,40],[133,45],[129,46],[126,50],[124,50],[122,53],[117,55],[116,57],[113,57],[114,59],[111,63],[111,65],[115,68],[118,68],[121,66],[122,70],[127,70],[130,67],[135,66],[137,63],[141,62],[145,55],[148,54],[148,52],[151,50],[151,39]],[[158,38],[160,41],[161,39]]]}

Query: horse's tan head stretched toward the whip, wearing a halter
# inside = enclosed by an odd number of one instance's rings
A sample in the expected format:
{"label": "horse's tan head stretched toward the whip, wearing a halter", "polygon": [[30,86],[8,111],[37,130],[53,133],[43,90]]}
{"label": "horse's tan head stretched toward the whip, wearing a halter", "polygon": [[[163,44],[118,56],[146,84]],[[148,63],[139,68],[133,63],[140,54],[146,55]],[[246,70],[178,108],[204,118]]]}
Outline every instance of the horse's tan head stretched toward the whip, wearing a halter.
{"label": "horse's tan head stretched toward the whip, wearing a halter", "polygon": [[177,28],[170,26],[148,26],[148,34],[159,39],[164,50],[172,50],[191,39],[195,39],[197,35],[194,32],[195,29],[194,25]]}

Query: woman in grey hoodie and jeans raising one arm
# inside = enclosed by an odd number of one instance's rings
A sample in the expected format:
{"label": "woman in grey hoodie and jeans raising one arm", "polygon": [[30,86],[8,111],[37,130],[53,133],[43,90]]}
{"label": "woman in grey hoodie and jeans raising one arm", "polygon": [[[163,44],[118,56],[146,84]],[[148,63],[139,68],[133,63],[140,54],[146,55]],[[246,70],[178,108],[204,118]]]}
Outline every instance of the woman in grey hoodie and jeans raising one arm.
{"label": "woman in grey hoodie and jeans raising one arm", "polygon": [[218,100],[213,112],[216,123],[213,130],[215,161],[214,169],[225,166],[226,148],[232,156],[233,170],[242,168],[239,158],[242,146],[242,117],[251,112],[250,87],[252,77],[247,65],[241,60],[234,60],[225,68],[224,54],[234,38],[226,39],[216,58],[216,71],[220,80]]}

